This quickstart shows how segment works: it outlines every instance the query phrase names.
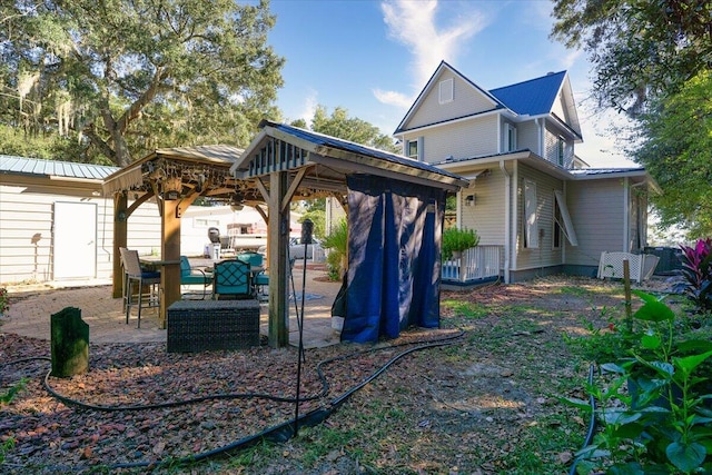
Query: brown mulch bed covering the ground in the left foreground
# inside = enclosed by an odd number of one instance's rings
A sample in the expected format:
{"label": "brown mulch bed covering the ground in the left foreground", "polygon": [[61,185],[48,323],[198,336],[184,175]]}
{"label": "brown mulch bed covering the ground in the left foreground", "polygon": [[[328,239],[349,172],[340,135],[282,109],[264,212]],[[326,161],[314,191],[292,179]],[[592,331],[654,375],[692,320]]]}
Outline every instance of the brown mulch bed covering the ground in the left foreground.
{"label": "brown mulch bed covering the ground in the left foreground", "polygon": [[[343,344],[307,350],[300,399],[318,397],[303,402],[299,414],[328,407],[398,353],[456,334],[413,330],[384,345]],[[165,344],[91,345],[87,374],[48,380],[66,398],[115,408],[96,410],[65,404],[46,390],[49,362],[7,364],[49,356],[49,342],[0,333],[0,395],[27,378],[16,397],[0,406],[0,444],[14,442],[2,467],[10,473],[63,473],[101,466],[120,469],[136,463],[184,458],[219,449],[294,417],[294,402],[226,395],[294,398],[295,348],[168,354]],[[380,349],[364,352],[375,348]],[[352,354],[356,355],[346,357]],[[324,365],[328,388],[323,393],[316,366],[335,357],[344,359]],[[222,396],[176,407],[128,409],[208,395]]]}

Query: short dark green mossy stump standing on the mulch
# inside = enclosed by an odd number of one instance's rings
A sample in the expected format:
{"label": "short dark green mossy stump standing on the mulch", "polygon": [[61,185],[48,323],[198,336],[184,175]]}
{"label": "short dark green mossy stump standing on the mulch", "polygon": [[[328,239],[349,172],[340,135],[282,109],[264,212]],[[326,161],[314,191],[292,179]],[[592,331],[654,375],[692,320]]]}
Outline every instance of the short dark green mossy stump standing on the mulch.
{"label": "short dark green mossy stump standing on the mulch", "polygon": [[89,369],[89,325],[81,319],[81,309],[66,307],[52,314],[52,376],[70,377]]}

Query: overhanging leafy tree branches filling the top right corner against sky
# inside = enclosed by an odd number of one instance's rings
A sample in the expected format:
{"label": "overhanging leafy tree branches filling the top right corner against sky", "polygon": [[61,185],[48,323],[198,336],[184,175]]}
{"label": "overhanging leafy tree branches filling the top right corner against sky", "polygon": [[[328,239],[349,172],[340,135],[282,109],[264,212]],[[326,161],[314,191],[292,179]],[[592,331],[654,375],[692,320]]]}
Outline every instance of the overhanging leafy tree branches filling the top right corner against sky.
{"label": "overhanging leafy tree branches filling the top right corner against sky", "polygon": [[710,0],[555,0],[551,36],[587,51],[600,105],[637,115],[709,69]]}

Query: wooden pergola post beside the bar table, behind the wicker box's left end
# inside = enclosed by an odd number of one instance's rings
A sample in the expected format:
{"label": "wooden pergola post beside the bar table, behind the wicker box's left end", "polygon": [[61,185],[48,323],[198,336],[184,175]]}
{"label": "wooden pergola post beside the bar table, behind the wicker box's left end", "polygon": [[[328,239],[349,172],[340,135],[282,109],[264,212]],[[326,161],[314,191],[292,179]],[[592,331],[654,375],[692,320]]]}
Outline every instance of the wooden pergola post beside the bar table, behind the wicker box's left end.
{"label": "wooden pergola post beside the bar table, behind the wicker box's left end", "polygon": [[180,200],[161,200],[161,260],[165,264],[160,270],[160,325],[166,328],[168,307],[180,300]]}

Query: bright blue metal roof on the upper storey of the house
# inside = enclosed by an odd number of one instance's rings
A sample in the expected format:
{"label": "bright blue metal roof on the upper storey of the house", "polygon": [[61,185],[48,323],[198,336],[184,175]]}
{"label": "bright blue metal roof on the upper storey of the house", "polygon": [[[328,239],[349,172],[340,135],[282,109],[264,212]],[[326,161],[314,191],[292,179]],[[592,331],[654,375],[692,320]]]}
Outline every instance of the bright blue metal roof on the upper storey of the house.
{"label": "bright blue metal roof on the upper storey of the house", "polygon": [[520,116],[541,116],[551,112],[565,76],[566,71],[551,72],[541,78],[492,89],[490,93]]}

